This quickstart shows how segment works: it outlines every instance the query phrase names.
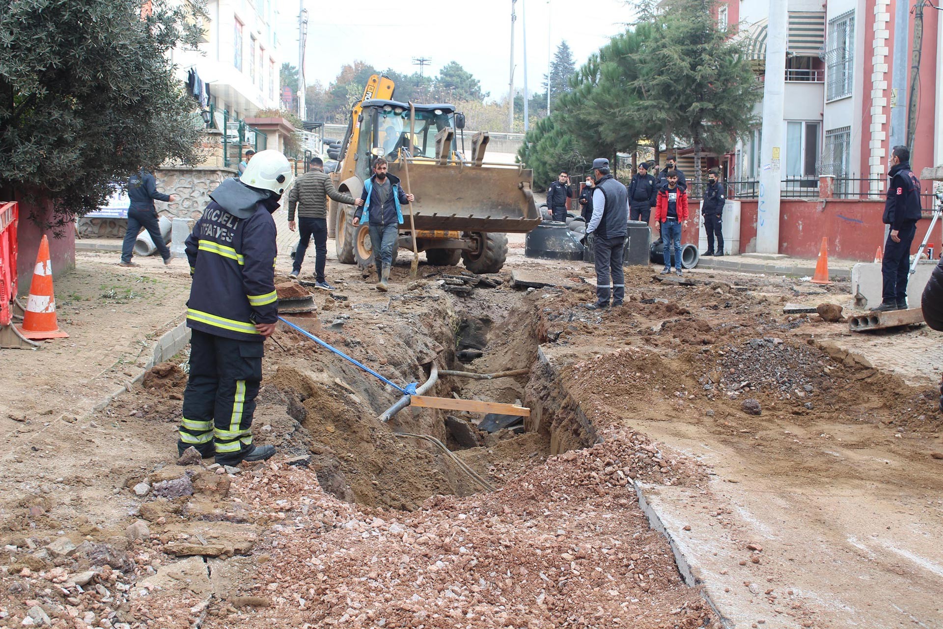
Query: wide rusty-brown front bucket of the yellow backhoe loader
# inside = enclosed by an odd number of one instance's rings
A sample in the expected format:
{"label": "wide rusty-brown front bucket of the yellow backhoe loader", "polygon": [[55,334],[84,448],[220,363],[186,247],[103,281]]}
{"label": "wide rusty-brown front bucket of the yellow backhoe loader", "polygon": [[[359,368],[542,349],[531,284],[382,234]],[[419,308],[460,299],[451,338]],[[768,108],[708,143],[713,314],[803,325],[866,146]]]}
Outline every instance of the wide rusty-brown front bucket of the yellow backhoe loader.
{"label": "wide rusty-brown front bucket of the yellow backhoe loader", "polygon": [[[533,174],[517,166],[438,165],[410,161],[409,180],[401,161],[389,164],[404,189],[416,195],[417,229],[527,233],[540,223],[531,192]],[[409,222],[404,208],[404,218]]]}

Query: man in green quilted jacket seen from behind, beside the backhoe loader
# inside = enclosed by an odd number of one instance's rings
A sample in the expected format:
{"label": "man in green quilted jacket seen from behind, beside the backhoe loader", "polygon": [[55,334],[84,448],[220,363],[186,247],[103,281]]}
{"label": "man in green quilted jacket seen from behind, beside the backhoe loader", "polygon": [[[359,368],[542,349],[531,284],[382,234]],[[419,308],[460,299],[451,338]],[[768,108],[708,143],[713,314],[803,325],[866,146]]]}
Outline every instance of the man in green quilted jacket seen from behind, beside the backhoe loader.
{"label": "man in green quilted jacket seen from behind, beside the backhoe loader", "polygon": [[340,193],[331,177],[324,173],[321,157],[311,160],[311,170],[298,177],[289,192],[289,229],[295,230],[295,207],[298,207],[298,226],[301,241],[295,252],[294,264],[289,277],[295,279],[301,273],[301,263],[305,260],[307,243],[314,236],[314,279],[317,287],[334,290],[324,277],[324,263],[327,260],[327,201],[331,197],[338,203],[354,205],[354,197]]}

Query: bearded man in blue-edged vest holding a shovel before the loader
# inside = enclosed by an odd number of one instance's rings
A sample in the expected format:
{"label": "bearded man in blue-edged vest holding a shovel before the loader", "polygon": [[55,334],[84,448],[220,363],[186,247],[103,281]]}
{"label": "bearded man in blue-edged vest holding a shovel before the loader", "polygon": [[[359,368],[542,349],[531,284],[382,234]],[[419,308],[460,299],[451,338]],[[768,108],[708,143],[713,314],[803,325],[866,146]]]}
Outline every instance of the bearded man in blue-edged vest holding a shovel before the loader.
{"label": "bearded man in blue-edged vest holding a shovel before the loader", "polygon": [[389,268],[393,265],[393,248],[400,235],[403,223],[403,210],[400,206],[412,203],[412,194],[406,194],[400,186],[398,177],[387,173],[389,164],[383,157],[373,162],[373,176],[364,182],[363,192],[356,201],[354,226],[360,224],[364,211],[367,212],[370,228],[370,241],[373,247],[373,264],[380,283],[376,290],[386,292],[389,289]]}

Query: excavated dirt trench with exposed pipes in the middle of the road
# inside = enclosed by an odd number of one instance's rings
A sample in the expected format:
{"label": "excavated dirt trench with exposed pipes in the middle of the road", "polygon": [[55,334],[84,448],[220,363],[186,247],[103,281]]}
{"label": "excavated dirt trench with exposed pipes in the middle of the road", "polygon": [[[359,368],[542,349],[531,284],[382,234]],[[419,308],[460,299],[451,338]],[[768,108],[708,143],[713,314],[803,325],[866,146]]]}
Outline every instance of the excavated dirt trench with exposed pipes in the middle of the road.
{"label": "excavated dirt trench with exposed pipes in the middle of the road", "polygon": [[[557,399],[559,388],[540,363],[533,300],[490,291],[482,299],[417,301],[390,302],[386,312],[357,312],[341,334],[320,334],[394,382],[422,384],[433,360],[440,372],[526,370],[493,379],[442,374],[427,394],[523,405],[532,415],[407,406],[382,422],[378,418],[397,401],[397,391],[298,335],[282,335],[282,345],[293,346],[274,360],[270,382],[278,392],[271,395],[301,425],[286,435],[289,452],[310,455],[325,490],[347,502],[413,510],[435,494],[466,496],[501,487],[548,455],[595,441],[585,418]],[[371,323],[363,325],[365,319]]]}

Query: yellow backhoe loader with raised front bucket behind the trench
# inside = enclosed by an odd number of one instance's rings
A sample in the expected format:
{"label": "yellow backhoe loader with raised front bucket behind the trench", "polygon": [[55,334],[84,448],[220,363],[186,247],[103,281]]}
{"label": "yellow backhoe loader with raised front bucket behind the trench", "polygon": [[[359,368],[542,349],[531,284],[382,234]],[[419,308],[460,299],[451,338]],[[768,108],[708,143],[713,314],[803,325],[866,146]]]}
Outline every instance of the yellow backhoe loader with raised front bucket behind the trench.
{"label": "yellow backhoe loader with raised front bucket behind the trench", "polygon": [[[400,103],[392,100],[394,88],[387,76],[371,76],[363,100],[351,111],[340,167],[331,174],[335,186],[359,198],[373,162],[385,157],[389,172],[416,196],[415,245],[428,262],[455,265],[461,260],[472,273],[497,273],[507,256],[506,234],[527,233],[540,223],[533,172],[488,163],[488,133],[476,133],[465,155],[457,141],[465,117],[455,106]],[[355,209],[331,201],[329,235],[336,239],[340,262],[366,267],[372,263],[372,245],[366,219],[354,226]],[[397,248],[413,251],[407,207],[403,215]]]}

